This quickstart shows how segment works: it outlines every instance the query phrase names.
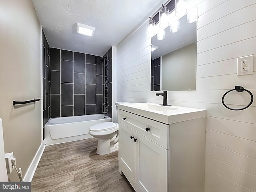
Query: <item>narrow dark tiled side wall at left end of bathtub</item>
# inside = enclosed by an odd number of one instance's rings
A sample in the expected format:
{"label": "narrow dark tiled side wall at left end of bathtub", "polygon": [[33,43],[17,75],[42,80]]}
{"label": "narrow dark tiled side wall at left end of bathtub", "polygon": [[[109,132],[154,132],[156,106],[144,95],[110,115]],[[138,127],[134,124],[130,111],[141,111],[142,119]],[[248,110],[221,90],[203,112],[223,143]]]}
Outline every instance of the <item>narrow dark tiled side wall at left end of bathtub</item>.
{"label": "narrow dark tiled side wall at left end of bathtub", "polygon": [[51,108],[51,102],[50,102],[50,47],[47,42],[47,39],[43,33],[43,63],[42,63],[42,69],[43,69],[43,139],[44,139],[44,126],[46,122],[50,118],[50,108]]}

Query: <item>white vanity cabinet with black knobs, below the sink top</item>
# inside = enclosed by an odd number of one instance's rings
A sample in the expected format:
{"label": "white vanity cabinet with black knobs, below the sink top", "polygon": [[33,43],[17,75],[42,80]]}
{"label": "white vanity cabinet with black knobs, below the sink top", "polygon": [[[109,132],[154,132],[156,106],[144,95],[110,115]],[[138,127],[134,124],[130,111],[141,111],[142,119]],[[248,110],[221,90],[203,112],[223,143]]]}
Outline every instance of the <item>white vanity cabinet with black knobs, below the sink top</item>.
{"label": "white vanity cabinet with black knobs, below the sink top", "polygon": [[119,172],[136,192],[203,192],[205,117],[164,124],[120,109]]}

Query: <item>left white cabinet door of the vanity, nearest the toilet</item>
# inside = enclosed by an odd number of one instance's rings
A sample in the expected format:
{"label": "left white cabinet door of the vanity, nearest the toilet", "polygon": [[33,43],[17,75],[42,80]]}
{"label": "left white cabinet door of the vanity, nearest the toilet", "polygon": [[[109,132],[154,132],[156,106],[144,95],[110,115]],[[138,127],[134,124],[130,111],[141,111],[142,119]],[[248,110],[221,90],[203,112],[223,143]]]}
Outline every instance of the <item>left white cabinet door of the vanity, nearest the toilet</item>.
{"label": "left white cabinet door of the vanity, nearest the toilet", "polygon": [[[119,124],[119,163],[135,181],[135,131]],[[132,138],[131,138],[132,137]]]}

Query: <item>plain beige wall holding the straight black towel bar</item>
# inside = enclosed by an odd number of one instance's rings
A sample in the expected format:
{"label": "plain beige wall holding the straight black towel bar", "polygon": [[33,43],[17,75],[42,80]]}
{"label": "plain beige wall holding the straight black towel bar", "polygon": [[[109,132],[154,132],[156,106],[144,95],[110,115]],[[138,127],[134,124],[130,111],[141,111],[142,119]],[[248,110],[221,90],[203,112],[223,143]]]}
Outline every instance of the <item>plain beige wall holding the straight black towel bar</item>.
{"label": "plain beige wall holding the straight black towel bar", "polygon": [[[0,0],[0,118],[5,152],[14,152],[26,174],[41,144],[41,30],[30,0]],[[14,170],[10,181],[19,181]]]}

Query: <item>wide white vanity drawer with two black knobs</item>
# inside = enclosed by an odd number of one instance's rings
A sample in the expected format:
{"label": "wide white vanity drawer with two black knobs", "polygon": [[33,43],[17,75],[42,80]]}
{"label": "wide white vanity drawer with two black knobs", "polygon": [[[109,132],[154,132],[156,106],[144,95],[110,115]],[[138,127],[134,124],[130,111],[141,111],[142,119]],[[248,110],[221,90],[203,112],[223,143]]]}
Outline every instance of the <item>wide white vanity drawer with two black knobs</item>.
{"label": "wide white vanity drawer with two black knobs", "polygon": [[118,121],[160,146],[169,149],[169,125],[124,110],[119,110]]}

